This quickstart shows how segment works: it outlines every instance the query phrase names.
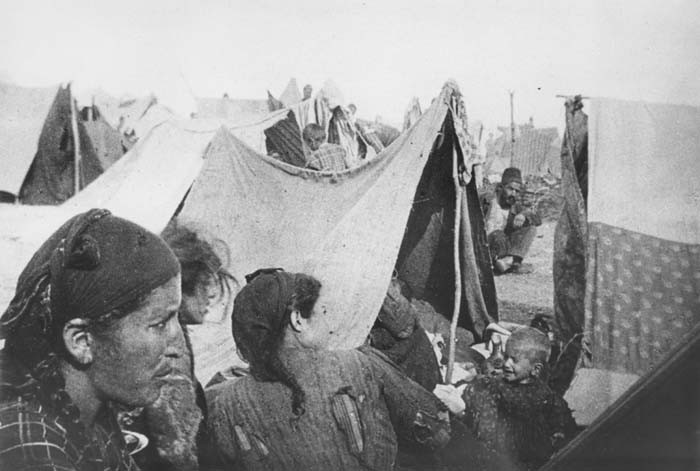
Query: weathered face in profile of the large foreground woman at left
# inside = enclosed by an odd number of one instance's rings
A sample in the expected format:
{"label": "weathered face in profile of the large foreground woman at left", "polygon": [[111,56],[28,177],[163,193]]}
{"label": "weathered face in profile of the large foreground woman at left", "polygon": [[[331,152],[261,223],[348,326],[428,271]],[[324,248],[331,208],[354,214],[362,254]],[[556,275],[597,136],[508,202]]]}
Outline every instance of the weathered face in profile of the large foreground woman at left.
{"label": "weathered face in profile of the large foreground woman at left", "polygon": [[93,336],[93,361],[87,372],[100,399],[145,406],[158,398],[173,363],[185,350],[179,306],[177,275],[107,332]]}

